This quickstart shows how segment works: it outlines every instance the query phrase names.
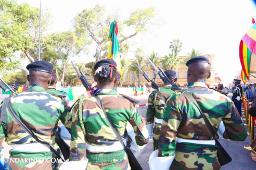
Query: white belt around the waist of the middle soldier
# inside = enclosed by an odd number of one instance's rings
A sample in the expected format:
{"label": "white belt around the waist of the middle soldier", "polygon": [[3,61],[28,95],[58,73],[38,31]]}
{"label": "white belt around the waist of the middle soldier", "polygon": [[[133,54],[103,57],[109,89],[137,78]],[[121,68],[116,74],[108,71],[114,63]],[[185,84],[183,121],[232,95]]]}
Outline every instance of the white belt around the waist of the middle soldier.
{"label": "white belt around the waist of the middle soldier", "polygon": [[[126,139],[123,140],[124,145],[126,146]],[[113,151],[118,151],[118,150],[122,150],[123,145],[120,143],[120,141],[118,143],[114,143],[113,145],[109,145],[109,146],[92,146],[89,145],[87,146],[87,150],[89,151],[93,151],[93,152],[113,152]]]}

